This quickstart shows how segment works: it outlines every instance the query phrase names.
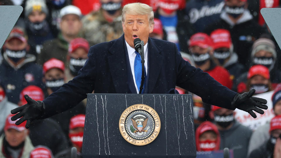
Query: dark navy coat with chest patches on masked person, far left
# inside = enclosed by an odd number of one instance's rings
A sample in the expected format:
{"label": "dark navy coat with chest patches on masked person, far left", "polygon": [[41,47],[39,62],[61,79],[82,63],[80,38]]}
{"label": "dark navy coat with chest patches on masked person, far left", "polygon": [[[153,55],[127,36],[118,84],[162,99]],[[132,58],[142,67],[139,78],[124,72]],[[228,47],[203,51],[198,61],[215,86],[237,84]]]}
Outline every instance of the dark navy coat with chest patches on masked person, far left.
{"label": "dark navy coat with chest patches on masked person, far left", "polygon": [[13,66],[7,55],[4,53],[0,65],[0,80],[6,89],[6,97],[9,102],[18,104],[20,92],[29,85],[36,85],[44,88],[42,83],[42,67],[34,63],[35,56],[26,54],[26,59],[17,67]]}

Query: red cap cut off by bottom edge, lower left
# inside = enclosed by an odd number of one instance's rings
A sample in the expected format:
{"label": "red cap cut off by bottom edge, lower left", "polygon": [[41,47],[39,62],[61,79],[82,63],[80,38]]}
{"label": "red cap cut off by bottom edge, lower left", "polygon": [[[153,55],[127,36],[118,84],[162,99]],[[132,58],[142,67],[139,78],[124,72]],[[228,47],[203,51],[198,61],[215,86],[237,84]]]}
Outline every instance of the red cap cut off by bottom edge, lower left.
{"label": "red cap cut off by bottom edge, lower left", "polygon": [[30,158],[53,158],[53,154],[49,148],[38,146],[30,152]]}

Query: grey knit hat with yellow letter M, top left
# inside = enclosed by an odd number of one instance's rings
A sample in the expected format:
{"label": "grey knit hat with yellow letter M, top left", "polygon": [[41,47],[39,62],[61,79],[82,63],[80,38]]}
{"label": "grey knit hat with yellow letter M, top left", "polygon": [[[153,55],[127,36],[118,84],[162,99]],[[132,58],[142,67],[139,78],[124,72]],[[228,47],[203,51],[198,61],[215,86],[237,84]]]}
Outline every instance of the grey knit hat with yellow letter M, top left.
{"label": "grey knit hat with yellow letter M, top left", "polygon": [[27,0],[25,3],[25,18],[28,18],[32,11],[42,11],[48,16],[48,8],[45,0]]}

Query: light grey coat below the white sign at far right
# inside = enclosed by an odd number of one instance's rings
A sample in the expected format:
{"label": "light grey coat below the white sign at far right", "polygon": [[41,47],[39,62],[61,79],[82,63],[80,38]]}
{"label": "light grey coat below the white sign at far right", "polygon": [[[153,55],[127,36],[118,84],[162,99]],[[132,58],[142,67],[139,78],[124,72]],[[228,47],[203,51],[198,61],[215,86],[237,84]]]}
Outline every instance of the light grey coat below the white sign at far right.
{"label": "light grey coat below the white sign at far right", "polygon": [[249,148],[248,148],[248,155],[251,154],[252,151],[260,147],[261,145],[265,144],[269,138],[269,129],[270,129],[270,122],[265,123],[262,126],[259,126],[252,134]]}

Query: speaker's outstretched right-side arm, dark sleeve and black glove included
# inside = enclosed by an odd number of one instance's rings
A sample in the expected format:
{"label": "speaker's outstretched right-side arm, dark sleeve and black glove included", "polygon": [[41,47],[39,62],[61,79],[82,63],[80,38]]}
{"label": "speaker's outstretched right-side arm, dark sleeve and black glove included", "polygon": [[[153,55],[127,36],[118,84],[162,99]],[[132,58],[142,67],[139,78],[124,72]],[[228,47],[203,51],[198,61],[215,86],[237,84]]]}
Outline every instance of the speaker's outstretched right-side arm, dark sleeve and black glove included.
{"label": "speaker's outstretched right-side arm, dark sleeve and black glove included", "polygon": [[252,97],[255,90],[239,95],[221,85],[208,73],[191,66],[181,58],[176,46],[175,51],[177,85],[200,96],[203,102],[231,110],[241,109],[251,114],[253,118],[257,117],[253,111],[263,114],[264,111],[261,109],[268,108],[265,99]]}

